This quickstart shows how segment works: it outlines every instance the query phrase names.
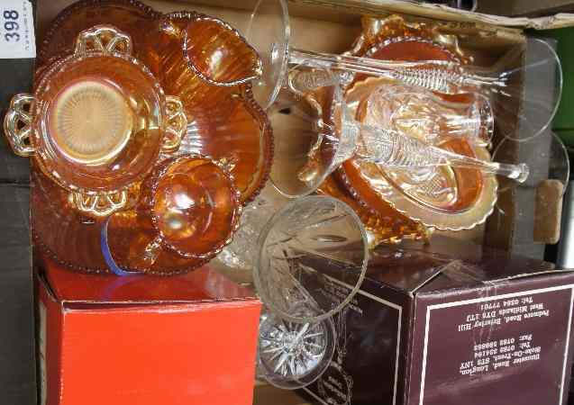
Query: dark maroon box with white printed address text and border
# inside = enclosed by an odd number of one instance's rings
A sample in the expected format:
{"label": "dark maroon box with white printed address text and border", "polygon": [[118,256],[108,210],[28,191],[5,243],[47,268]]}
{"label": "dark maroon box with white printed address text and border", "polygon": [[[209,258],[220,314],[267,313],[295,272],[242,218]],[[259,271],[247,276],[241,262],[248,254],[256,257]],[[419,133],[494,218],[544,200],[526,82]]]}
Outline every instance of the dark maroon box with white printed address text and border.
{"label": "dark maroon box with white printed address text and border", "polygon": [[323,405],[565,405],[573,299],[574,272],[537,260],[448,238],[379,247],[335,316],[332,364],[300,392]]}

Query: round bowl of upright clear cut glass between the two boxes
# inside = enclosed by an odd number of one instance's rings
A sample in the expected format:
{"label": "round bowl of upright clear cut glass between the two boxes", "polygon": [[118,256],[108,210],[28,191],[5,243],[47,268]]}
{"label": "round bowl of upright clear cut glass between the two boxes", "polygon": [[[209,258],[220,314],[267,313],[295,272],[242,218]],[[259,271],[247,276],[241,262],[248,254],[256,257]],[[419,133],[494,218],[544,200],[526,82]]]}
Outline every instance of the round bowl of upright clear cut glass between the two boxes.
{"label": "round bowl of upright clear cut glass between the two boxes", "polygon": [[[287,203],[260,232],[253,282],[284,320],[325,320],[358,293],[369,261],[367,233],[354,211],[326,196]],[[291,311],[305,302],[309,311]]]}

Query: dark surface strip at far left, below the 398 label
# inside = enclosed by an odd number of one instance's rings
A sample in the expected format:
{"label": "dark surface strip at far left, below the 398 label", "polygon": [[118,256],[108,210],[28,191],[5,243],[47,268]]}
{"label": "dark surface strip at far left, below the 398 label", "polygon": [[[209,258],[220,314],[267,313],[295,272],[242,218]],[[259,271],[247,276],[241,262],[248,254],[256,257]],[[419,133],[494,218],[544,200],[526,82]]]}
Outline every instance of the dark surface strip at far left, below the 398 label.
{"label": "dark surface strip at far left, below the 398 label", "polygon": [[[35,6],[36,1],[32,0]],[[33,59],[0,59],[0,118],[10,98],[32,87]],[[0,125],[2,127],[2,125]],[[0,130],[0,403],[36,403],[29,163]]]}

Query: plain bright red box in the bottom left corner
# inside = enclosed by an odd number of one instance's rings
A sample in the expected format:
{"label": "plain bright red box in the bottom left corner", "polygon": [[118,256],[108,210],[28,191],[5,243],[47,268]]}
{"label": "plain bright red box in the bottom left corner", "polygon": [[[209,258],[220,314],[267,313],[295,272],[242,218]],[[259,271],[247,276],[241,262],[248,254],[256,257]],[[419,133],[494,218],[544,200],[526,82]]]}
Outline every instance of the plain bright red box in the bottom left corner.
{"label": "plain bright red box in the bottom left corner", "polygon": [[35,278],[41,405],[251,405],[260,302],[210,267]]}

